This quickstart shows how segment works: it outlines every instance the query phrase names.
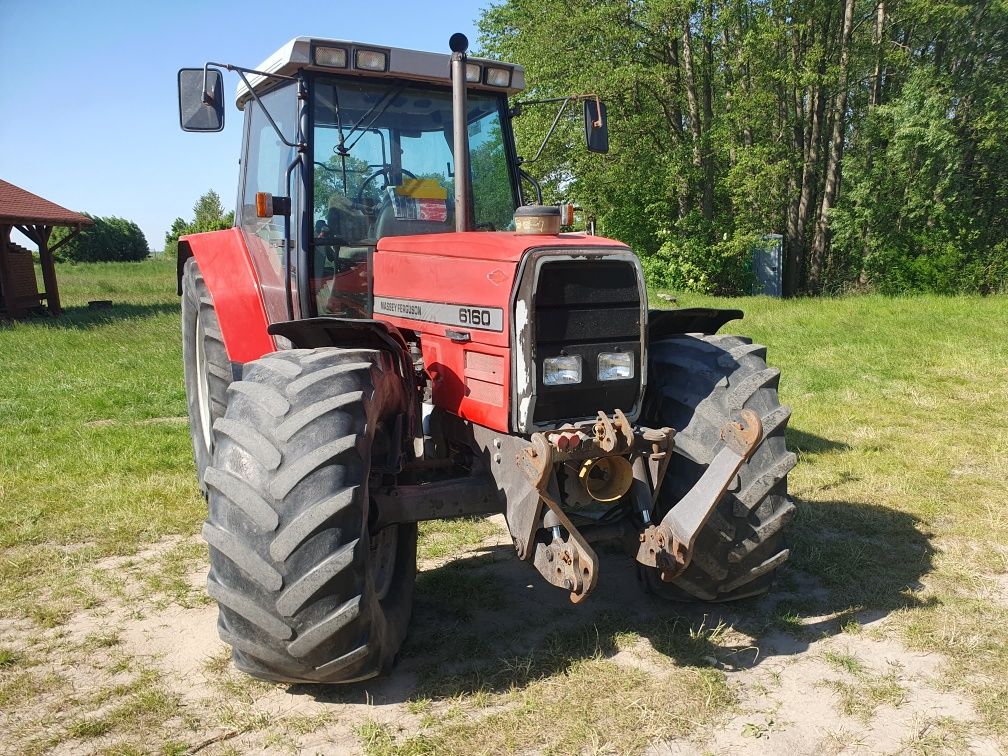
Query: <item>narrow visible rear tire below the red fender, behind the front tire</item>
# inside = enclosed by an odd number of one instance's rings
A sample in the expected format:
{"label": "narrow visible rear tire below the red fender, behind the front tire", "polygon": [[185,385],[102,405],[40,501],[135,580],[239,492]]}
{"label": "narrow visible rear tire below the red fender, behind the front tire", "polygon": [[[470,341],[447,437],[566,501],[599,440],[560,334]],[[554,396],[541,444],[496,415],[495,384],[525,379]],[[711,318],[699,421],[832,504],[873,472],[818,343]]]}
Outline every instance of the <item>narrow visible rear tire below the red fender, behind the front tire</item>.
{"label": "narrow visible rear tire below the red fender, behind the front tire", "polygon": [[206,496],[204,476],[214,453],[214,421],[224,416],[233,376],[214,299],[195,257],[182,269],[182,364],[193,460]]}

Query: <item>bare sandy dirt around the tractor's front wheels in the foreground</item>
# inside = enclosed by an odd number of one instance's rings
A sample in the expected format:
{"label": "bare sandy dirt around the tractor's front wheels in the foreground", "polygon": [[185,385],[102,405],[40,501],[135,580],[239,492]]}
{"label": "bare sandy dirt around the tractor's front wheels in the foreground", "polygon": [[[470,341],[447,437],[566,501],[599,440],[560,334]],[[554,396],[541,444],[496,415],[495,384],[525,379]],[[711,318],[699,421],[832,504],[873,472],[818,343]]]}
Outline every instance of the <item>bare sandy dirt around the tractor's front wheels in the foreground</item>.
{"label": "bare sandy dirt around the tractor's front wheels in the foreground", "polygon": [[[618,666],[648,672],[658,670],[654,654],[661,653],[657,650],[661,644],[649,638],[648,628],[674,615],[681,621],[682,632],[706,642],[698,646],[699,660],[688,663],[720,670],[731,704],[682,737],[652,742],[646,748],[650,756],[999,753],[996,742],[977,734],[977,714],[949,684],[944,659],[911,651],[889,637],[887,616],[859,617],[855,623],[846,621],[844,627],[830,614],[792,617],[789,624],[773,620],[779,616],[776,609],[781,602],[825,594],[796,571],[785,572],[780,588],[758,601],[717,608],[670,608],[643,593],[629,559],[604,554],[595,595],[587,604],[574,607],[562,592],[546,586],[513,557],[503,520],[495,518],[495,524],[497,534],[461,558],[420,564],[410,638],[403,658],[387,678],[343,688],[312,688],[265,684],[235,672],[227,647],[217,636],[217,607],[204,596],[205,556],[197,556],[188,565],[193,569],[186,572],[182,590],[170,598],[162,595],[160,601],[149,599],[144,576],[152,565],[179,548],[192,546],[199,553],[198,541],[177,538],[165,539],[134,557],[105,560],[92,580],[102,582],[103,572],[108,580],[121,579],[113,592],[115,598],[33,641],[36,646],[48,644],[45,660],[33,673],[36,678],[55,675],[69,681],[73,694],[108,691],[104,710],[103,699],[91,699],[98,703],[85,723],[101,720],[103,711],[117,705],[115,691],[128,689],[130,680],[135,683],[131,675],[136,670],[157,680],[165,688],[162,698],[166,695],[175,704],[169,718],[154,725],[156,737],[152,733],[145,740],[143,733],[136,734],[131,748],[140,751],[388,752],[402,746],[410,735],[436,727],[439,715],[453,707],[466,709],[467,698],[460,695],[457,681],[438,689],[438,677],[429,670],[431,659],[451,669],[474,652],[472,643],[456,643],[453,638],[460,628],[470,639],[510,638],[517,644],[509,648],[510,653],[515,647],[534,649],[547,633],[562,632],[566,626],[605,625],[607,632],[615,628],[636,633],[631,635],[636,639],[614,645],[600,632],[592,653]],[[469,601],[465,594],[474,588],[488,592],[492,600],[477,602],[480,608],[474,612],[460,613],[460,602]],[[24,652],[32,653],[31,644],[26,645],[19,632],[24,629],[8,623],[0,627],[0,636],[8,643],[17,643],[20,636]],[[476,647],[475,652],[493,664],[497,649],[489,643]],[[501,653],[499,662],[509,663]],[[419,691],[421,678],[427,682]],[[42,689],[32,707],[5,714],[0,736],[6,732],[10,738],[7,748],[41,742],[31,740],[38,736],[33,721],[38,728],[66,731],[67,718],[75,714],[60,712],[60,698],[66,696],[66,687]],[[465,716],[482,715],[466,711]],[[72,726],[70,731],[81,737],[50,742],[56,752],[120,750],[120,741],[111,734],[98,731],[96,733],[84,725]],[[369,733],[379,733],[381,738],[369,738]],[[15,746],[9,752],[20,750]],[[473,751],[480,750],[484,747],[474,744]],[[588,750],[618,752],[605,742]],[[440,751],[435,748],[434,752]]]}

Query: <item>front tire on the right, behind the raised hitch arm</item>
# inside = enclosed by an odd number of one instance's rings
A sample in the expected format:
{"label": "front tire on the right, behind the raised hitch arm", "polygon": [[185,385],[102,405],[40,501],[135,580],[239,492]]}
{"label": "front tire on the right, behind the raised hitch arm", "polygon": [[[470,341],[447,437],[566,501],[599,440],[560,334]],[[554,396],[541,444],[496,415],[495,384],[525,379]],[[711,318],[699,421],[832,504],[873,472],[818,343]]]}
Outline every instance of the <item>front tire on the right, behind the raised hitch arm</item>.
{"label": "front tire on the right, behind the raised hitch arm", "polygon": [[768,368],[766,347],[736,336],[679,336],[650,347],[642,419],[676,430],[654,520],[700,479],[721,450],[721,427],[754,410],[763,439],[697,539],[692,560],[672,583],[641,568],[647,588],[675,601],[733,601],[769,590],[788,556],[783,529],[794,514],[787,474],[796,462],[784,444],[791,410],[777,399],[780,371]]}

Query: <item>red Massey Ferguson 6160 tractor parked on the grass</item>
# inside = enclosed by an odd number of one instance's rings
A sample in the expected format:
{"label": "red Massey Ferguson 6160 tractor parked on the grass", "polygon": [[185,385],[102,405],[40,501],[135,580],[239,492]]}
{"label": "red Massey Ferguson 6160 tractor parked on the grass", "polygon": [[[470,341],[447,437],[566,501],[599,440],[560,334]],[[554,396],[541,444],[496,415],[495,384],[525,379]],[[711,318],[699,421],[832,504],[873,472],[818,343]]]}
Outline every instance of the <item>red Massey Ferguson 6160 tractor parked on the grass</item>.
{"label": "red Massey Ferguson 6160 tractor parked on the grass", "polygon": [[179,240],[178,290],[208,591],[256,677],[387,670],[422,520],[503,512],[576,603],[603,540],[674,600],[764,592],[787,558],[779,373],[716,336],[742,312],[649,310],[626,245],[558,233],[515,153],[524,71],[450,45],[298,37],[178,75],[190,131],[241,78],[235,227]]}

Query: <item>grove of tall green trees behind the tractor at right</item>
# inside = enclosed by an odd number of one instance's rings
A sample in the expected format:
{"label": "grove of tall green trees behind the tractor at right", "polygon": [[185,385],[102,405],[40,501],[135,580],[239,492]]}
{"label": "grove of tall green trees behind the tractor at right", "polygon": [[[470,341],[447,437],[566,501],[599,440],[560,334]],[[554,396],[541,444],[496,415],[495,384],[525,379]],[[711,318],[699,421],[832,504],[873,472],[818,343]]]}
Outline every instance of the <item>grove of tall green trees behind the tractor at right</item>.
{"label": "grove of tall green trees behind the tractor at right", "polygon": [[[610,153],[564,120],[527,166],[655,282],[785,293],[1008,289],[1006,0],[502,0],[482,52],[523,98],[597,93]],[[554,111],[515,120],[534,154]]]}

